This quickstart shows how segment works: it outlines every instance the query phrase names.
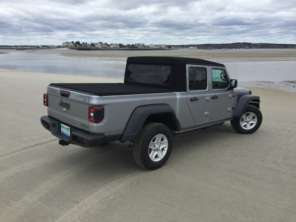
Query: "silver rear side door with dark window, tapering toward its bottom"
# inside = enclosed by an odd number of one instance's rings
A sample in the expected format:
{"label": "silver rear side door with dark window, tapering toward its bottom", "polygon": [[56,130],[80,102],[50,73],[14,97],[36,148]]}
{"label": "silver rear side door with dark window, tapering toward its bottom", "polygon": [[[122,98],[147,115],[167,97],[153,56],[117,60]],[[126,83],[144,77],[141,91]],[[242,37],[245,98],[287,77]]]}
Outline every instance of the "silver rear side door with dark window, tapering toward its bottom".
{"label": "silver rear side door with dark window, tapering toward its bottom", "polygon": [[187,105],[195,123],[204,123],[209,118],[210,87],[207,66],[186,65]]}

